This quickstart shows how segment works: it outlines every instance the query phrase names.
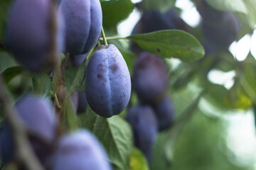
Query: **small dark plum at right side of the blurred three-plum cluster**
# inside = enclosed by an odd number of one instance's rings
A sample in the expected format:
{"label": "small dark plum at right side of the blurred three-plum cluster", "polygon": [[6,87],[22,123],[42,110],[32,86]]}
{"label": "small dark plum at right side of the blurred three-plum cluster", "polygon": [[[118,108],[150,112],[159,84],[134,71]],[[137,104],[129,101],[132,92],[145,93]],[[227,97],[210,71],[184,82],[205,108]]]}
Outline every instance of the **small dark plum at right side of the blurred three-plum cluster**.
{"label": "small dark plum at right side of the blurred three-plum cluster", "polygon": [[154,111],[158,120],[159,130],[169,128],[174,120],[174,108],[167,94],[164,98],[154,103]]}

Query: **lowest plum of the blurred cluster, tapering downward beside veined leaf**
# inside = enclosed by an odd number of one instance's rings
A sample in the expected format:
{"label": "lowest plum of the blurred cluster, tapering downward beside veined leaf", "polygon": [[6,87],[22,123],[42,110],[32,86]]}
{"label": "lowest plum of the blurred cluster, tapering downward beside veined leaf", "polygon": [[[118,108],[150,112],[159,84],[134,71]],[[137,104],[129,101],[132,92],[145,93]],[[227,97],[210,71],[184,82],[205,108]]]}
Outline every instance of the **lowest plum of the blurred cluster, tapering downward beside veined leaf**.
{"label": "lowest plum of the blurred cluster, tapering downward beside veined leaf", "polygon": [[142,150],[148,162],[151,162],[151,152],[156,140],[158,125],[151,106],[133,106],[127,112],[127,122],[132,126],[134,145]]}

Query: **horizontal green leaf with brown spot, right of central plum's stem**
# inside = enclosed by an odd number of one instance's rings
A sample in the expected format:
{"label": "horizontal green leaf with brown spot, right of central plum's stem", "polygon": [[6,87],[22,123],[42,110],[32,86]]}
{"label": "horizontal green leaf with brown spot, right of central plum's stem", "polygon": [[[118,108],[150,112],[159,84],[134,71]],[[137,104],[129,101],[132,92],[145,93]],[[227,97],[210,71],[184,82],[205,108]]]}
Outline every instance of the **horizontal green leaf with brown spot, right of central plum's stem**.
{"label": "horizontal green leaf with brown spot, right of central plum's stem", "polygon": [[130,35],[129,40],[161,57],[174,57],[183,62],[198,60],[204,55],[200,42],[183,30],[160,30],[153,33]]}

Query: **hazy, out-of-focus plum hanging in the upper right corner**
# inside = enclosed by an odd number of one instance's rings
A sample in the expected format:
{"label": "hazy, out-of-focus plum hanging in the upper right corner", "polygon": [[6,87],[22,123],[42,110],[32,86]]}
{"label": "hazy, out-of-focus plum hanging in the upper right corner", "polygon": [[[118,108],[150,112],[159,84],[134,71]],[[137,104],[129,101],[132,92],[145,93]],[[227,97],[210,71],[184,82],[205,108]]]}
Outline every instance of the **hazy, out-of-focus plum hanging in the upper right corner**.
{"label": "hazy, out-of-focus plum hanging in the upper right corner", "polygon": [[196,5],[203,18],[201,26],[206,44],[215,51],[227,50],[240,30],[238,18],[232,12],[212,8],[204,0],[198,0]]}

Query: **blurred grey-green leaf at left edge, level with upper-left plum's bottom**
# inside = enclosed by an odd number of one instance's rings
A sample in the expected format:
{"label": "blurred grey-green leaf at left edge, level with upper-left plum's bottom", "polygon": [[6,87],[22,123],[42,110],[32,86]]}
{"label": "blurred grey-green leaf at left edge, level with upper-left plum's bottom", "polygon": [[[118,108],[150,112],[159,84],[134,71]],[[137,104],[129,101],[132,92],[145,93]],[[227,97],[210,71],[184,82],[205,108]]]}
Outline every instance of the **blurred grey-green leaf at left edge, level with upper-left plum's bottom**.
{"label": "blurred grey-green leaf at left edge, level with upper-left plum's bottom", "polygon": [[0,72],[14,66],[18,66],[14,58],[8,52],[0,51]]}

